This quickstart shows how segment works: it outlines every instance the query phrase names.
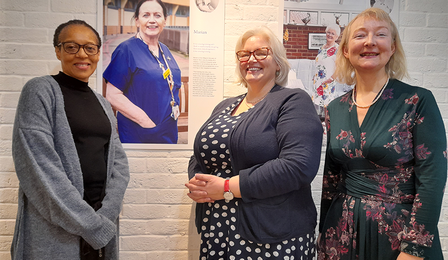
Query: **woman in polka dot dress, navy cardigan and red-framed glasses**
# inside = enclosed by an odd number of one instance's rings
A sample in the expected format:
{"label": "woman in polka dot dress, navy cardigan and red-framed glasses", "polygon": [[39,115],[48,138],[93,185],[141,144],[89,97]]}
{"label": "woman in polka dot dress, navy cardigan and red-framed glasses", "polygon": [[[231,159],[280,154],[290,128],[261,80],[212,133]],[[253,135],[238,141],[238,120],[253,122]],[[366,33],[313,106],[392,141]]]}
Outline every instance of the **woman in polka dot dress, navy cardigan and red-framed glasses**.
{"label": "woman in polka dot dress, navy cardigan and red-framed glasses", "polygon": [[310,96],[288,89],[282,43],[267,27],[236,44],[236,81],[196,135],[187,195],[197,202],[200,259],[315,259],[311,181],[323,129]]}

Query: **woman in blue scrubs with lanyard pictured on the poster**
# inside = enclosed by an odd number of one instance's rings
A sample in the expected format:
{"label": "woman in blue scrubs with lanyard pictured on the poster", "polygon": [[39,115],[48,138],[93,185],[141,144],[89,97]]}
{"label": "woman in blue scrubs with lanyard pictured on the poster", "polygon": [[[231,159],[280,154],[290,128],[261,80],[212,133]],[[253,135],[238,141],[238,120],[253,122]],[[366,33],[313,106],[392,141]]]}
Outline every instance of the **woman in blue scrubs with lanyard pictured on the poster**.
{"label": "woman in blue scrubs with lanyard pictured on the poster", "polygon": [[118,45],[103,73],[123,143],[177,143],[181,71],[159,42],[166,17],[161,0],[141,0],[133,17],[139,32]]}

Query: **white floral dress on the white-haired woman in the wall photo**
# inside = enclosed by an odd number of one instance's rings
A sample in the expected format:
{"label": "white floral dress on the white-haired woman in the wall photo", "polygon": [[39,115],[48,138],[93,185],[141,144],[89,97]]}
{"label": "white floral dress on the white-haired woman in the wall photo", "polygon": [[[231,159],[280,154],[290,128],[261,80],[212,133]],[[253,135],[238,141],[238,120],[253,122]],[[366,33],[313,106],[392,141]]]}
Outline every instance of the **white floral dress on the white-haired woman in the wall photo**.
{"label": "white floral dress on the white-haired woman in the wall photo", "polygon": [[321,47],[316,57],[316,70],[313,80],[313,89],[311,99],[316,105],[327,107],[327,105],[335,99],[336,81],[332,83],[324,83],[335,72],[336,53],[339,45],[336,43],[330,48]]}

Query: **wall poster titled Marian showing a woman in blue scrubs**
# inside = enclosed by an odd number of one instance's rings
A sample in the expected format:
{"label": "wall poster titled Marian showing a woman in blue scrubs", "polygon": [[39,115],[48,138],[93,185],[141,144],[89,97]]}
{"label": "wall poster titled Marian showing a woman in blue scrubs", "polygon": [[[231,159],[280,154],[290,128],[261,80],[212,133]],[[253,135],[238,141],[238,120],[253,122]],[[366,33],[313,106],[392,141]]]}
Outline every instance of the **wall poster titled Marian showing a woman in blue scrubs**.
{"label": "wall poster titled Marian showing a woman in blue scrubs", "polygon": [[[157,32],[133,18],[138,2],[97,2],[104,43],[97,90],[117,108],[125,149],[191,150],[196,132],[223,100],[224,1],[161,0],[156,7],[164,10],[163,26]],[[214,22],[205,22],[212,11]],[[159,56],[147,44],[151,35],[157,37]],[[116,93],[127,105],[113,104]]]}

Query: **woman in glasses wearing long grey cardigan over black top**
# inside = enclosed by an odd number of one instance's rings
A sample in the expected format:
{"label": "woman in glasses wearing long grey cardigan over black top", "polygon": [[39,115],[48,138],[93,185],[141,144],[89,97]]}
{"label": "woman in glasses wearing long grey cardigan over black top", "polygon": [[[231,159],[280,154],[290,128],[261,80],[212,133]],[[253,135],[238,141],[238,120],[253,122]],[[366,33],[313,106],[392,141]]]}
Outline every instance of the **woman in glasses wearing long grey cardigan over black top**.
{"label": "woman in glasses wearing long grey cardigan over black top", "polygon": [[11,259],[115,260],[129,170],[112,108],[88,86],[101,38],[71,20],[55,30],[53,45],[62,71],[29,80],[17,105]]}

